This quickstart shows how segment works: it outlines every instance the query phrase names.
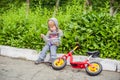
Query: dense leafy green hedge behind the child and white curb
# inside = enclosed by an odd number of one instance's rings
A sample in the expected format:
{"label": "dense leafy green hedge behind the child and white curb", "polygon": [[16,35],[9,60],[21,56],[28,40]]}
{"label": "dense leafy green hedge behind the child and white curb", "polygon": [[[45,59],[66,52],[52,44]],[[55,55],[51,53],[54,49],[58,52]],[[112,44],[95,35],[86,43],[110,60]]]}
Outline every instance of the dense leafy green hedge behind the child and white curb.
{"label": "dense leafy green hedge behind the child and white curb", "polygon": [[[26,15],[25,5],[4,12],[0,16],[0,44],[41,50],[44,41],[40,34],[46,34],[52,14],[53,8],[38,6]],[[102,58],[120,59],[120,14],[110,17],[107,8],[84,13],[82,6],[74,4],[60,7],[56,18],[65,37],[58,52],[71,50],[78,37],[81,48],[74,54],[98,50]]]}

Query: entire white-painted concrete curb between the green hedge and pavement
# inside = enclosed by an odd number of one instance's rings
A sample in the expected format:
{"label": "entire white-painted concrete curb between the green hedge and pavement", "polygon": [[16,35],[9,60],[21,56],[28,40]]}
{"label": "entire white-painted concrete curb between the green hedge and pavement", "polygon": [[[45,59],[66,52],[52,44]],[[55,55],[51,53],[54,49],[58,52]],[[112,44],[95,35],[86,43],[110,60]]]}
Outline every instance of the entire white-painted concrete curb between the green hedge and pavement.
{"label": "entire white-painted concrete curb between the green hedge and pavement", "polygon": [[[22,48],[15,48],[10,46],[0,46],[0,55],[8,56],[12,58],[22,58],[26,60],[35,61],[38,58],[38,52],[36,50],[31,49],[22,49]],[[63,54],[57,54],[57,56],[62,56]],[[87,56],[76,56],[74,55],[74,61],[83,61],[87,58]],[[49,55],[46,57],[46,61],[49,59]],[[91,61],[100,62],[103,66],[103,70],[109,71],[117,71],[120,72],[120,61],[111,60],[111,59],[101,59],[101,58],[94,58]],[[68,61],[69,65],[69,61]]]}

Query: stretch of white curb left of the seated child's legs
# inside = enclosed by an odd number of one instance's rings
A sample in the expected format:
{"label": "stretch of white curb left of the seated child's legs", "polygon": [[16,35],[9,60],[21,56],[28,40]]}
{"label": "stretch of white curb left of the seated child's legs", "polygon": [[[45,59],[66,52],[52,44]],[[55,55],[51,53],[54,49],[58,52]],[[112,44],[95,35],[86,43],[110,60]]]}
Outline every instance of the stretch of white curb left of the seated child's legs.
{"label": "stretch of white curb left of the seated child's legs", "polygon": [[0,46],[0,55],[33,61],[38,57],[37,51],[35,50],[21,49],[10,46]]}

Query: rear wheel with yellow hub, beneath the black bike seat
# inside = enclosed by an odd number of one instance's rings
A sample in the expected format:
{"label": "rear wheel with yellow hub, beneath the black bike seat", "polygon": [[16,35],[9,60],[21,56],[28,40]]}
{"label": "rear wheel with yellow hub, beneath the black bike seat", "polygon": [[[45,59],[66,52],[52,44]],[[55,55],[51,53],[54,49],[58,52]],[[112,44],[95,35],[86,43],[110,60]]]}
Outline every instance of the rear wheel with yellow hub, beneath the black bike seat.
{"label": "rear wheel with yellow hub, beneath the black bike seat", "polygon": [[90,65],[86,67],[86,72],[90,76],[96,76],[102,72],[102,65],[98,62],[91,62]]}

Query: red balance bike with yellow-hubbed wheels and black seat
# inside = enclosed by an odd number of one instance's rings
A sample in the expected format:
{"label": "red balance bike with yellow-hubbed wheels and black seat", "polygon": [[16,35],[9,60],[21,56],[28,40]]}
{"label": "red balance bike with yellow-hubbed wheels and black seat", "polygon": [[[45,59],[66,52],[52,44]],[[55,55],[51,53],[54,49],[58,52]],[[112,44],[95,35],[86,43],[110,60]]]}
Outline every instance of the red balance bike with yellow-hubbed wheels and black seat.
{"label": "red balance bike with yellow-hubbed wheels and black seat", "polygon": [[68,52],[68,54],[65,54],[65,55],[55,59],[52,62],[52,68],[55,70],[63,69],[67,65],[68,57],[70,57],[69,61],[73,68],[85,69],[86,72],[90,76],[96,76],[96,75],[100,74],[102,72],[102,65],[98,62],[90,62],[90,58],[95,58],[95,57],[99,56],[99,52],[98,51],[87,52],[89,57],[86,60],[75,62],[75,61],[73,61],[72,53],[77,48],[79,48],[79,45],[76,45],[76,47],[73,50],[71,50],[70,52]]}

